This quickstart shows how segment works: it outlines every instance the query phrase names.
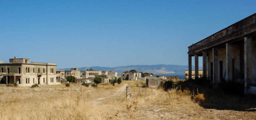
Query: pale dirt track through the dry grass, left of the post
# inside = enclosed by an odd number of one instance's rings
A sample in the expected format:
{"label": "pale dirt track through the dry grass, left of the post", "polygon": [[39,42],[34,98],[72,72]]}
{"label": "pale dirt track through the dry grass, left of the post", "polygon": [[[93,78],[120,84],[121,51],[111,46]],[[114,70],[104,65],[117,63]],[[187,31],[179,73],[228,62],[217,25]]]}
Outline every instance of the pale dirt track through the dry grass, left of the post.
{"label": "pale dirt track through the dry grass, left of the post", "polygon": [[94,105],[99,105],[99,104],[103,104],[103,101],[112,99],[114,97],[119,97],[123,92],[126,92],[126,86],[127,86],[127,84],[124,84],[124,85],[122,85],[122,87],[120,87],[118,90],[116,90],[114,92],[114,94],[112,94],[111,96],[98,97],[95,100],[91,101],[91,103]]}

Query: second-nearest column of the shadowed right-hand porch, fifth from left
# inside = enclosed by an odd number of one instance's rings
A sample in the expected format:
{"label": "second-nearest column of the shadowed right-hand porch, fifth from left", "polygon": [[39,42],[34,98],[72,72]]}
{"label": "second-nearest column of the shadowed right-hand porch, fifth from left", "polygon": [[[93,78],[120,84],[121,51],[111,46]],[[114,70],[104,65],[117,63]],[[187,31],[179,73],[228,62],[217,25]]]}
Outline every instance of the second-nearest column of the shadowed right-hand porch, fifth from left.
{"label": "second-nearest column of the shadowed right-hand porch, fifth from left", "polygon": [[226,43],[226,80],[233,80],[232,78],[232,46]]}

